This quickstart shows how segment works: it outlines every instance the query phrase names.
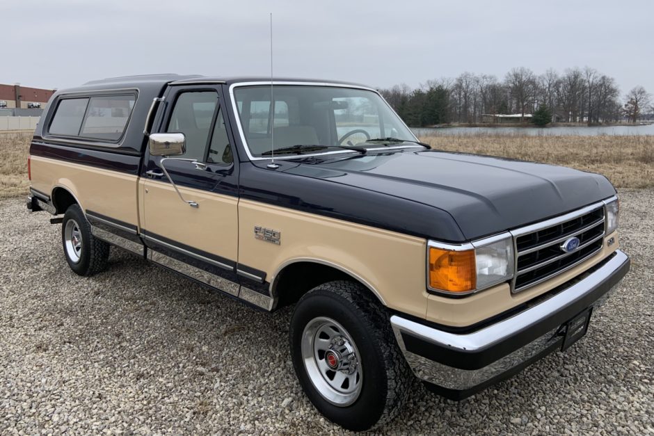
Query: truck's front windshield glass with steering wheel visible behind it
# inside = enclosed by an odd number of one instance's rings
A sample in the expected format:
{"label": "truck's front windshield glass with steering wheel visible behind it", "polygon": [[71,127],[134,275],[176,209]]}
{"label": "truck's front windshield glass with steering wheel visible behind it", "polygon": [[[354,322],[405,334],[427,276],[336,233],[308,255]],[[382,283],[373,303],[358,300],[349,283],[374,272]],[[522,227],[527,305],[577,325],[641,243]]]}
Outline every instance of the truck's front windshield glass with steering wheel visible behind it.
{"label": "truck's front windshield glass with steering wheel visible behind it", "polygon": [[400,143],[415,141],[411,131],[373,91],[275,85],[273,95],[271,111],[269,85],[234,88],[247,147],[255,157],[268,157],[271,149],[285,152],[289,147],[295,147],[293,150],[298,153],[342,150],[338,147],[357,145],[378,147],[378,143],[366,143],[378,138],[397,138]]}

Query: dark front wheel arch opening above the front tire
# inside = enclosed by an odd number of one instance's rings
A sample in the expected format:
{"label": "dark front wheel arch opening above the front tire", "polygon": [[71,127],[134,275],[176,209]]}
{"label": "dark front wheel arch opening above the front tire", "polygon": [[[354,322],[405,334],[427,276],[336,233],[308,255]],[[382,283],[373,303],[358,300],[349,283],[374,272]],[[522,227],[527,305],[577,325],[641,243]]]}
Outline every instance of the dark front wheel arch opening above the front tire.
{"label": "dark front wheel arch opening above the front tire", "polygon": [[386,306],[384,298],[375,286],[348,268],[323,259],[298,257],[285,261],[273,275],[270,293],[276,301],[275,308],[293,304],[315,286],[333,280],[357,282]]}

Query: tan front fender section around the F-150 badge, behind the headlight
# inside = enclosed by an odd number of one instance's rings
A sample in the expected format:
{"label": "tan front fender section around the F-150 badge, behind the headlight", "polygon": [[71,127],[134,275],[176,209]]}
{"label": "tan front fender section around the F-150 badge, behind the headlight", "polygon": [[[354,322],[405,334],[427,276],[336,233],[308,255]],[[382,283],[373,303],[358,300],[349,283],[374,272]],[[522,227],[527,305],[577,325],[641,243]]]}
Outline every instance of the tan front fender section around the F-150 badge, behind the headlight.
{"label": "tan front fender section around the F-150 badge, behind the headlight", "polygon": [[[255,226],[280,232],[280,243],[255,238]],[[329,264],[358,278],[388,307],[424,318],[426,241],[333,218],[241,200],[239,264],[274,282],[294,261]]]}

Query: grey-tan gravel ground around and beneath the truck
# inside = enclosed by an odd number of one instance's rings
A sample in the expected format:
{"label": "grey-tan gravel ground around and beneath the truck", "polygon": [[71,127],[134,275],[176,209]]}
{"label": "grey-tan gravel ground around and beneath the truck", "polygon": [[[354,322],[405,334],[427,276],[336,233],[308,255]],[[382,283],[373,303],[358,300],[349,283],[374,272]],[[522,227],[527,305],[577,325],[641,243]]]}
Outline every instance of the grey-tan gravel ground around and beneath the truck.
{"label": "grey-tan gravel ground around and beneath the truck", "polygon": [[[654,434],[654,190],[621,200],[632,272],[587,337],[461,403],[417,385],[378,433]],[[0,433],[343,433],[296,382],[289,309],[255,312],[116,249],[77,277],[48,218],[0,202]]]}

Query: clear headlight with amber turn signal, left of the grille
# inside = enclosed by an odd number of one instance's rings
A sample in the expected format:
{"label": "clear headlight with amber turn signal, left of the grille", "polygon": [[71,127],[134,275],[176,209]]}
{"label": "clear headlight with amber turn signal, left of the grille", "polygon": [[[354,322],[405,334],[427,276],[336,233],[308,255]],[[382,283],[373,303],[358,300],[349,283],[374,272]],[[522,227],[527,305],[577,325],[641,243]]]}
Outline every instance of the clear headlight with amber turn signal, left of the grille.
{"label": "clear headlight with amber turn signal, left of the grille", "polygon": [[465,245],[429,242],[429,288],[465,295],[513,277],[513,241],[508,234]]}

